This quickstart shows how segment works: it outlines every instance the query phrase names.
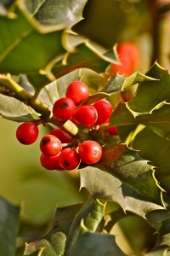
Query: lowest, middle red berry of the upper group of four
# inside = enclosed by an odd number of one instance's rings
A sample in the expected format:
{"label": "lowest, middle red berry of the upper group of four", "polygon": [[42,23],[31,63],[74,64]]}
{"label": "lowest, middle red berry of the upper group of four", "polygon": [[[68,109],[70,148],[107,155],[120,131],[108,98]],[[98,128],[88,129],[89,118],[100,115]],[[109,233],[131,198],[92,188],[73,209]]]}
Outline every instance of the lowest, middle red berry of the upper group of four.
{"label": "lowest, middle red berry of the upper group of four", "polygon": [[78,125],[91,126],[98,119],[98,112],[92,105],[81,105],[76,108],[73,119]]}

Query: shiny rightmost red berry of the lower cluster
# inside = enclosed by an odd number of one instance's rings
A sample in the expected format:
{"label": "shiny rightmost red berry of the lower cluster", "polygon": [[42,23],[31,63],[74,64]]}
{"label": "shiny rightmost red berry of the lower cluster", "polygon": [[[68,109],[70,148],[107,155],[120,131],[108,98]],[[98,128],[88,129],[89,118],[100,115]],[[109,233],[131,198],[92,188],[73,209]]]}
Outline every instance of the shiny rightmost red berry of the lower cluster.
{"label": "shiny rightmost red berry of the lower cluster", "polygon": [[99,143],[94,141],[85,141],[80,144],[78,154],[84,163],[95,164],[101,158],[102,148]]}

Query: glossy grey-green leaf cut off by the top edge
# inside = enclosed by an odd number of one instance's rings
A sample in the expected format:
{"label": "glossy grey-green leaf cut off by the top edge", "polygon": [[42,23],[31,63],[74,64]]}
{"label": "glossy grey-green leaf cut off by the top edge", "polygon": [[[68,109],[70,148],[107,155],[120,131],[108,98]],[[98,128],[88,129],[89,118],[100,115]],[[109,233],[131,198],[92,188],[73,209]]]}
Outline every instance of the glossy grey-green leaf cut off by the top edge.
{"label": "glossy grey-green leaf cut off by the top edge", "polygon": [[43,26],[63,25],[67,28],[82,20],[88,0],[26,0],[26,8]]}

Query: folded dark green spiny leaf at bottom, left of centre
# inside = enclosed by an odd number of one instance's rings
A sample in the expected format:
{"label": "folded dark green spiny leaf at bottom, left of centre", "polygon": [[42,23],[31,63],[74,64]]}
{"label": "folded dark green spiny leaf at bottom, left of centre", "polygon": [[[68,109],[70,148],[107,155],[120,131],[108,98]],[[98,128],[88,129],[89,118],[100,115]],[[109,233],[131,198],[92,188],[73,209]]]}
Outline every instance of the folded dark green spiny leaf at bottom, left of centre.
{"label": "folded dark green spiny leaf at bottom, left of centre", "polygon": [[24,255],[31,255],[37,251],[42,253],[41,256],[63,255],[74,243],[82,218],[88,230],[100,230],[104,221],[104,211],[105,205],[91,198],[85,204],[58,208],[48,233],[41,240],[27,244]]}

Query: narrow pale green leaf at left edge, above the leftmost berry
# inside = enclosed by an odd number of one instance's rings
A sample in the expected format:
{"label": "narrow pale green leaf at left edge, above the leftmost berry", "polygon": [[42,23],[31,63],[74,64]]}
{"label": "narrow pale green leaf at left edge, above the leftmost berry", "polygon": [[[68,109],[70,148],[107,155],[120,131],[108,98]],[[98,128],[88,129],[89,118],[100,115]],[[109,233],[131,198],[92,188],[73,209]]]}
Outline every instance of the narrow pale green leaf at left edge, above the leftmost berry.
{"label": "narrow pale green leaf at left edge, above the leftmost berry", "polygon": [[33,108],[11,96],[0,94],[0,115],[15,122],[28,122],[40,118]]}

